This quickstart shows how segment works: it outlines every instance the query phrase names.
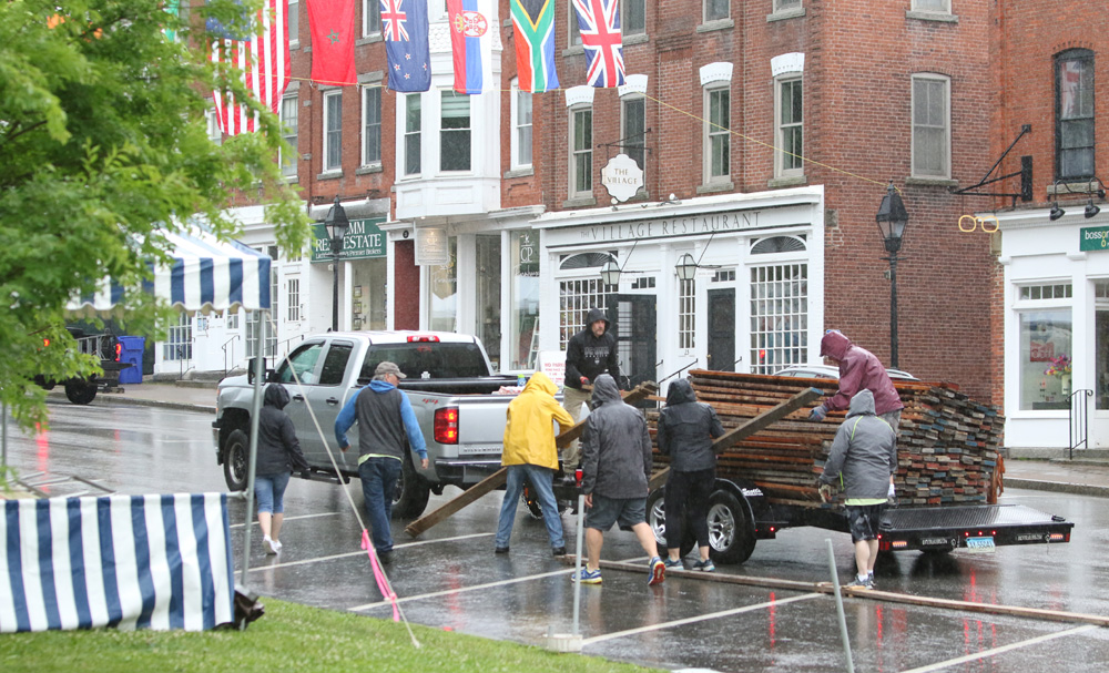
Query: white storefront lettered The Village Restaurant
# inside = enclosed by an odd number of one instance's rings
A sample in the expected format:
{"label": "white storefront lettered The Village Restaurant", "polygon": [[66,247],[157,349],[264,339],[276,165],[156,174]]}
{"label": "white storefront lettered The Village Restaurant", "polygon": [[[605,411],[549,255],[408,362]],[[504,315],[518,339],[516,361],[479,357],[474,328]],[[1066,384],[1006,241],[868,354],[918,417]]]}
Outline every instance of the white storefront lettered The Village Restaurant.
{"label": "white storefront lettered The Village Restaurant", "polygon": [[[820,359],[823,186],[549,213],[533,225],[542,350],[566,350],[596,306],[609,310],[631,385]],[[610,261],[615,285],[601,277]],[[695,263],[692,279],[679,277],[682,261]]]}

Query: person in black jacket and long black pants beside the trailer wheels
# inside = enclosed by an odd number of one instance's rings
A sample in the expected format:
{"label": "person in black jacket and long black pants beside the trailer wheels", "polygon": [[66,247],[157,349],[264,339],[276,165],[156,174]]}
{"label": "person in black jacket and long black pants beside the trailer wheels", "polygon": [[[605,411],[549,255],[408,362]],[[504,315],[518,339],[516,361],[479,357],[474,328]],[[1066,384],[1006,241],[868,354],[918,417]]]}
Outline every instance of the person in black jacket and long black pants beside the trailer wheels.
{"label": "person in black jacket and long black pants beside the trailer wheels", "polygon": [[680,378],[667,389],[667,406],[659,415],[659,450],[670,456],[667,478],[667,568],[683,568],[682,520],[689,511],[701,559],[693,570],[716,569],[709,558],[709,496],[716,483],[716,455],[712,440],[724,434],[716,411],[696,401],[689,379]]}

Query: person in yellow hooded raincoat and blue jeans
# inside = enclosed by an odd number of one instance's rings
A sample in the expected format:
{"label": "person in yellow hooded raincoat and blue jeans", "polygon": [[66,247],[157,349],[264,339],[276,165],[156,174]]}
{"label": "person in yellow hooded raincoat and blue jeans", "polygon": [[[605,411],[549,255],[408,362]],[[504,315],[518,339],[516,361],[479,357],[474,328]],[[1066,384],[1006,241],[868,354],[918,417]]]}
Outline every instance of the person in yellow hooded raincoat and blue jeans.
{"label": "person in yellow hooded raincoat and blue jeans", "polygon": [[554,472],[558,470],[558,449],[554,447],[554,424],[559,431],[573,427],[573,418],[554,399],[558,388],[542,371],[531,375],[523,391],[508,405],[508,424],[505,426],[505,451],[500,463],[508,469],[505,500],[500,506],[500,521],[497,523],[497,549],[499,554],[508,553],[508,541],[512,537],[516,521],[516,506],[523,492],[523,482],[531,483],[542,508],[543,522],[550,537],[551,552],[556,557],[566,554],[562,539],[562,519],[552,489]]}

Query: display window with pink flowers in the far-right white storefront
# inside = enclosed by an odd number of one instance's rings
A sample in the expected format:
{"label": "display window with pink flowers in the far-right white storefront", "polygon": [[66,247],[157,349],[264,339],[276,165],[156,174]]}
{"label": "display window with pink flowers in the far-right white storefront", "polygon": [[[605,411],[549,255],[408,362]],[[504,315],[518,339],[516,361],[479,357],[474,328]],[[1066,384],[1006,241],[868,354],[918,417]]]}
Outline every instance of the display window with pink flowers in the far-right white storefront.
{"label": "display window with pink flowers in the far-right white storefront", "polygon": [[1067,409],[1072,376],[1070,308],[1020,314],[1020,408]]}

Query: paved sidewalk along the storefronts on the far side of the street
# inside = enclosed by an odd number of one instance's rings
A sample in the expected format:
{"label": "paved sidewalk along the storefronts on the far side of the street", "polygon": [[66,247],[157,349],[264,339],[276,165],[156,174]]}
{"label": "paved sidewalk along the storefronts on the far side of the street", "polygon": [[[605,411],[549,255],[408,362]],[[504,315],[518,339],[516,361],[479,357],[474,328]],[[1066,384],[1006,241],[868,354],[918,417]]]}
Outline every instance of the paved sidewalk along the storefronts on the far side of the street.
{"label": "paved sidewalk along the storefronts on the far side of the street", "polygon": [[[123,392],[101,392],[94,405],[143,405],[193,411],[215,412],[215,384],[206,381],[142,383],[123,386]],[[51,395],[64,394],[55,390]],[[1091,452],[1100,455],[1102,451]],[[1021,459],[1005,461],[1005,486],[1014,489],[1058,491],[1080,496],[1109,498],[1109,461],[1066,459],[1058,449],[1055,459]]]}

